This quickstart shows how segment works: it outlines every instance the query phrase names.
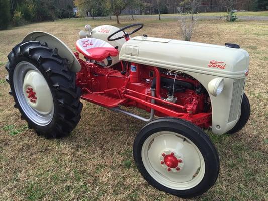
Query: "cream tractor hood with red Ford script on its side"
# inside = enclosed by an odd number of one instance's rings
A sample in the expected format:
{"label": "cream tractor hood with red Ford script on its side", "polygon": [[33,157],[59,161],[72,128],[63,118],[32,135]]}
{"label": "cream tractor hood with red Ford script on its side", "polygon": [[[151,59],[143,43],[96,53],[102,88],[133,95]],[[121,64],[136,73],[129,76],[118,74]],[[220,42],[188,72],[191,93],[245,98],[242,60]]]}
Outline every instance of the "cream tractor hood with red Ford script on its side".
{"label": "cream tractor hood with red Ford script on its side", "polygon": [[119,59],[228,78],[244,77],[249,66],[249,55],[243,49],[143,36],[127,41]]}

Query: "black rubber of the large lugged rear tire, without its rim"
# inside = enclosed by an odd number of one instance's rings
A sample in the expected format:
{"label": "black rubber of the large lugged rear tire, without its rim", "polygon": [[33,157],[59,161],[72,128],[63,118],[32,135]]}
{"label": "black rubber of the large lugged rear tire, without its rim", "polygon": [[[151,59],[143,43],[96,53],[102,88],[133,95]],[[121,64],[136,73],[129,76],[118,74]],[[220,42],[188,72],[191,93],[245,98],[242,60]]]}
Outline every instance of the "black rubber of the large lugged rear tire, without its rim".
{"label": "black rubber of the large lugged rear tire, without its rim", "polygon": [[[6,69],[7,81],[10,84],[10,94],[15,100],[15,107],[19,109],[22,119],[25,119],[29,128],[36,130],[38,135],[46,138],[60,138],[67,136],[78,124],[81,116],[82,103],[80,102],[80,88],[76,86],[76,74],[68,68],[68,60],[57,54],[57,49],[51,49],[47,43],[28,41],[15,46],[8,55]],[[33,64],[45,78],[54,105],[54,114],[48,125],[40,126],[27,116],[18,102],[14,90],[13,73],[19,62]]]}

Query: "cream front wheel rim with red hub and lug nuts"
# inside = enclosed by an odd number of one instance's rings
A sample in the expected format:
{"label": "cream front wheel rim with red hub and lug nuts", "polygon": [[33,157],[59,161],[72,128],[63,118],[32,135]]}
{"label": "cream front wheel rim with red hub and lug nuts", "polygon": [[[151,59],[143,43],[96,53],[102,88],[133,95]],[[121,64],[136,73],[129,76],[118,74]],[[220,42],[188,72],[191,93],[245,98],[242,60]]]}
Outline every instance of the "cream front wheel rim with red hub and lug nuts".
{"label": "cream front wheel rim with red hub and lug nuts", "polygon": [[181,134],[161,131],[149,136],[141,150],[145,169],[161,185],[175,190],[197,186],[205,161],[197,146]]}

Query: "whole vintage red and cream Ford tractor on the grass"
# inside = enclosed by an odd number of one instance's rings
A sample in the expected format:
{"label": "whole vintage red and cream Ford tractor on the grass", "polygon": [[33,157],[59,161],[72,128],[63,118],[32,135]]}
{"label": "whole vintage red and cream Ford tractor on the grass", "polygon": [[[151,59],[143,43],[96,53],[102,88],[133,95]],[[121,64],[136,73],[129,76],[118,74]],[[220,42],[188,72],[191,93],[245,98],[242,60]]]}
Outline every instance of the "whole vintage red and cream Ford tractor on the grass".
{"label": "whole vintage red and cream Ford tractor on the grass", "polygon": [[198,196],[219,173],[216,148],[203,129],[232,134],[248,121],[249,55],[235,44],[130,38],[142,27],[86,25],[75,53],[51,34],[29,33],[8,55],[10,94],[29,128],[47,138],[75,128],[80,98],[147,122],[133,145],[142,176],[159,190]]}

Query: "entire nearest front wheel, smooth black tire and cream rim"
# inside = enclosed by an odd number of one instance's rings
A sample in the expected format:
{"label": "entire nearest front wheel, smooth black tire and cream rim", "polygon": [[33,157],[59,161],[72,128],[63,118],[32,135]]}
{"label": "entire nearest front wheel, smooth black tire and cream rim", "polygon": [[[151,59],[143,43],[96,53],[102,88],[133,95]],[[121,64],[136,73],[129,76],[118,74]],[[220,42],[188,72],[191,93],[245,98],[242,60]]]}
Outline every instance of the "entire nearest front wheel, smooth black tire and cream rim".
{"label": "entire nearest front wheel, smooth black tire and cream rim", "polygon": [[148,183],[183,198],[203,194],[219,174],[218,153],[209,137],[181,119],[147,123],[136,136],[133,155]]}

